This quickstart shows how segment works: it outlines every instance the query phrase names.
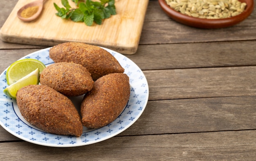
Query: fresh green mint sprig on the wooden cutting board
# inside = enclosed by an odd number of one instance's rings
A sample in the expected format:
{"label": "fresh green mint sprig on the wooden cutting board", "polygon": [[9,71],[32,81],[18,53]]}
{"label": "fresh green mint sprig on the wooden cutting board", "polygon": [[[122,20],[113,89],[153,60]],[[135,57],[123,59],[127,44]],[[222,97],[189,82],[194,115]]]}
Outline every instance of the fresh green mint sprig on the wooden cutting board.
{"label": "fresh green mint sprig on the wooden cutting board", "polygon": [[77,8],[70,7],[67,0],[61,0],[64,7],[59,7],[54,3],[55,9],[58,11],[57,16],[62,19],[71,19],[74,22],[84,22],[87,26],[92,26],[93,22],[102,24],[102,20],[109,18],[111,15],[116,15],[115,0],[100,0],[94,2],[86,0],[72,0]]}

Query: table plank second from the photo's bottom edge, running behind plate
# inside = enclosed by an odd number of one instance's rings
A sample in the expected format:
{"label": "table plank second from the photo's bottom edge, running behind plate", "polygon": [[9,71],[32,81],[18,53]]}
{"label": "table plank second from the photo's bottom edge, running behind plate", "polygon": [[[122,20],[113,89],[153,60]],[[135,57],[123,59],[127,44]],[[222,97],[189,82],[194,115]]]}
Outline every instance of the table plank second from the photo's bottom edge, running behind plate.
{"label": "table plank second from the photo's bottom edge, running behind plate", "polygon": [[[148,101],[141,117],[118,136],[256,129],[256,96]],[[20,140],[0,127],[1,141]]]}

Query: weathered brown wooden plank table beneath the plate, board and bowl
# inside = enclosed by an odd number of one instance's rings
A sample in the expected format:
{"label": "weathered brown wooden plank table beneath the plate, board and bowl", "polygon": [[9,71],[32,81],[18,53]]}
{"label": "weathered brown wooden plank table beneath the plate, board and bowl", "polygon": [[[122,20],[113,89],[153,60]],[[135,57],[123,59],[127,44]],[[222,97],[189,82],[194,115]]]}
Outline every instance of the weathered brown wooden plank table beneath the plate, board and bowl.
{"label": "weathered brown wooden plank table beneath the plate, board and bowl", "polygon": [[[17,0],[3,0],[0,27]],[[0,41],[0,70],[46,48]],[[0,160],[255,160],[256,11],[215,30],[179,24],[150,0],[139,42],[126,55],[149,85],[144,113],[119,135],[88,146],[32,144],[0,127]]]}

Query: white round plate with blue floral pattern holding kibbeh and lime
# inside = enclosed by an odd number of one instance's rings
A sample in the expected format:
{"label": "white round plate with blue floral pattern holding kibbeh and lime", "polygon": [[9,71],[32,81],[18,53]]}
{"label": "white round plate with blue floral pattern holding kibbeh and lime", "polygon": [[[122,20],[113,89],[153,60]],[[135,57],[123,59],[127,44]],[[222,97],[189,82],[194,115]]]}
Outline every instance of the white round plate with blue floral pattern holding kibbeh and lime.
{"label": "white round plate with blue floral pattern holding kibbeh and lime", "polygon": [[[54,63],[49,58],[49,49],[33,52],[21,59],[32,58],[42,61],[45,65]],[[130,127],[142,114],[148,102],[148,82],[141,69],[130,59],[118,52],[106,49],[124,67],[130,78],[130,98],[124,111],[110,124],[95,130],[83,128],[81,137],[50,134],[31,125],[20,114],[16,100],[12,100],[0,91],[0,125],[12,135],[25,141],[43,146],[73,147],[94,144],[109,139]],[[6,70],[0,75],[0,88],[6,88]],[[72,99],[75,106],[82,97]]]}

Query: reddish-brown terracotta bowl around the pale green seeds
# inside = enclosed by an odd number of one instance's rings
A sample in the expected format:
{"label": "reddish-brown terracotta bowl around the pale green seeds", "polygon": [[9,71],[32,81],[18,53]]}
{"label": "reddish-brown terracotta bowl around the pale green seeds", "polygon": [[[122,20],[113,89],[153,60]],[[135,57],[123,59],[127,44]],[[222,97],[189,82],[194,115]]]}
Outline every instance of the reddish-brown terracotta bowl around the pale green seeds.
{"label": "reddish-brown terracotta bowl around the pale green seeds", "polygon": [[223,18],[223,19],[204,19],[204,18],[196,18],[191,17],[188,15],[184,15],[180,12],[175,11],[172,9],[165,0],[158,0],[160,7],[163,11],[171,17],[173,20],[180,22],[182,24],[197,27],[197,28],[224,28],[233,26],[245,20],[254,10],[254,0],[239,0],[240,2],[245,2],[247,4],[245,11],[230,18]]}

